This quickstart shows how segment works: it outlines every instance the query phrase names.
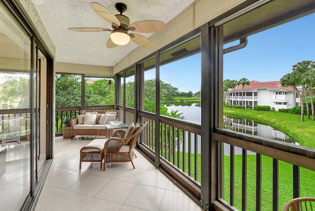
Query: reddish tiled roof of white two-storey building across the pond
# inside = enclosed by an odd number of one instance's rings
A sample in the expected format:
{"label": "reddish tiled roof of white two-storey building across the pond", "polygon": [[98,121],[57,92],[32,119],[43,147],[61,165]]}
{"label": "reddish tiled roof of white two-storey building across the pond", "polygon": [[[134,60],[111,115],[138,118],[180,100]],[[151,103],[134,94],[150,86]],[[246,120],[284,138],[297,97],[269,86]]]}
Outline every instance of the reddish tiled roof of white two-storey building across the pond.
{"label": "reddish tiled roof of white two-storey building across the pond", "polygon": [[[239,85],[235,87],[235,91],[242,91],[243,86]],[[283,91],[294,91],[293,87],[282,87],[280,85],[280,81],[268,81],[268,82],[259,82],[259,81],[251,81],[250,85],[244,86],[245,91],[256,91],[256,90],[283,90]],[[231,89],[229,91],[234,91]]]}

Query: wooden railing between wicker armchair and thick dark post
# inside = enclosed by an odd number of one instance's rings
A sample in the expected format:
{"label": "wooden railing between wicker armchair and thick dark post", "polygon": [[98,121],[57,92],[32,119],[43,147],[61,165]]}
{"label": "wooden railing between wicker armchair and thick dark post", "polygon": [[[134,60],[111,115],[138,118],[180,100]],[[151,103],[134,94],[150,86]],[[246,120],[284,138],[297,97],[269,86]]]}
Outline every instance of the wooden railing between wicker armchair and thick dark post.
{"label": "wooden railing between wicker armchair and thick dark post", "polygon": [[[143,130],[142,143],[138,145],[156,160],[156,115],[140,111],[141,121],[148,124]],[[200,125],[166,116],[159,117],[158,155],[159,167],[200,198],[201,129]]]}

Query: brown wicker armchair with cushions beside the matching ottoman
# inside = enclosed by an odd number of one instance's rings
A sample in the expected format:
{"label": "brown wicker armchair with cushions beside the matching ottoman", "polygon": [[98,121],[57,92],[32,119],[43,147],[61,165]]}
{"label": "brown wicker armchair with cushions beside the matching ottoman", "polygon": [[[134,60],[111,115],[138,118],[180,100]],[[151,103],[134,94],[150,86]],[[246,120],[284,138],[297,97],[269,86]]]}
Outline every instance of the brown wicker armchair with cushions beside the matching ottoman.
{"label": "brown wicker armchair with cushions beside the matching ottoman", "polygon": [[[126,130],[119,129],[114,132],[112,138],[108,139],[104,145],[104,171],[106,163],[114,162],[131,162],[133,169],[135,169],[132,160],[137,155],[133,149],[141,131],[146,125],[146,121],[141,122],[140,129],[127,138],[124,138]],[[129,141],[129,144],[125,145],[127,141]]]}

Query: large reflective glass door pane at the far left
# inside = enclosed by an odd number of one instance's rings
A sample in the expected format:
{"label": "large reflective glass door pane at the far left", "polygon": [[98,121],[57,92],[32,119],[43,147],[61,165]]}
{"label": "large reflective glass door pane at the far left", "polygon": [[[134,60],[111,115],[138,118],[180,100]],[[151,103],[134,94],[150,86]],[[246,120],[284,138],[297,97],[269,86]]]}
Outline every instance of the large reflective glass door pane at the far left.
{"label": "large reflective glass door pane at the far left", "polygon": [[0,207],[6,211],[20,210],[31,190],[30,75],[30,36],[0,3],[0,110],[5,110],[0,115]]}

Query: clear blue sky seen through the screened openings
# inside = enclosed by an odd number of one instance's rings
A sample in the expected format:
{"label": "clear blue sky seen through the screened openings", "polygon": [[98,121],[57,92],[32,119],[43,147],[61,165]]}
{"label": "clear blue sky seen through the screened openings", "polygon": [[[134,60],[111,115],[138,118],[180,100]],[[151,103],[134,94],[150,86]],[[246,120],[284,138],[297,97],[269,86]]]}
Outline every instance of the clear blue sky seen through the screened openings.
{"label": "clear blue sky seen through the screened openings", "polygon": [[[223,79],[279,81],[302,60],[315,60],[315,14],[249,36],[245,48],[223,56]],[[161,66],[160,79],[179,91],[195,93],[201,86],[200,69],[198,54]],[[155,71],[146,71],[145,79],[153,78]]]}

